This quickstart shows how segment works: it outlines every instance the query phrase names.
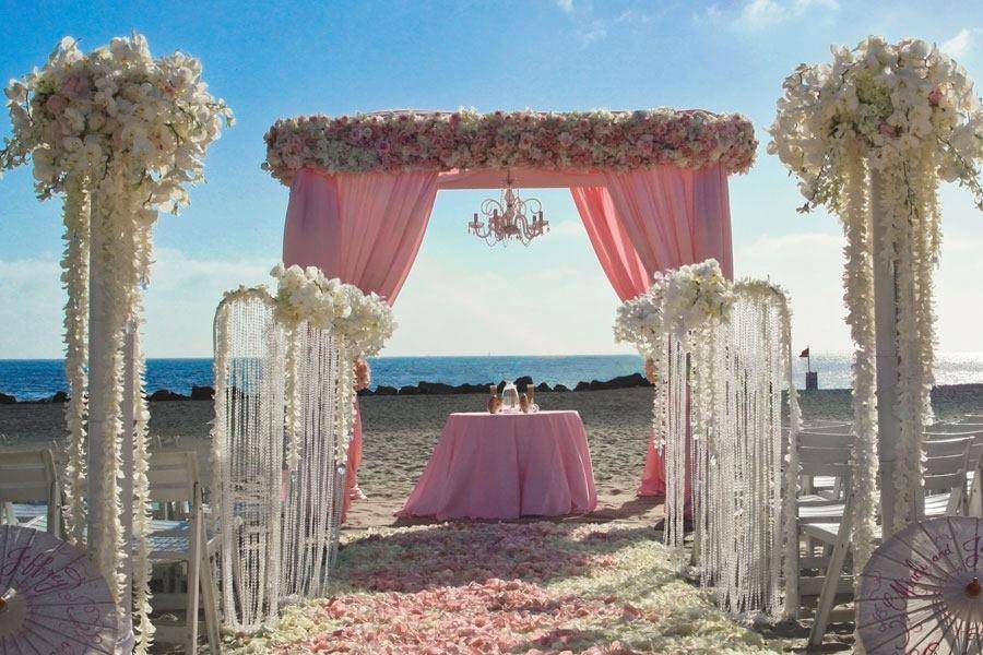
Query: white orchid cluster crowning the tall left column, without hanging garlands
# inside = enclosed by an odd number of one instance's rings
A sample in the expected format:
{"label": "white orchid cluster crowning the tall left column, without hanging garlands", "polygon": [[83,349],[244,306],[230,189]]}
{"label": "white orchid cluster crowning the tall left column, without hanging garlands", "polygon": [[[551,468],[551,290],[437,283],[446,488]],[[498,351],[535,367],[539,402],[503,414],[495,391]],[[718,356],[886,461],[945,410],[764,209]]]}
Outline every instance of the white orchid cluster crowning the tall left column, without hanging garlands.
{"label": "white orchid cluster crowning the tall left column, without hanging garlands", "polygon": [[42,199],[66,190],[71,171],[125,162],[145,204],[176,212],[188,183],[203,179],[204,154],[232,124],[209,92],[201,62],[182,52],[155,59],[139,34],[83,53],[66,37],[48,63],[8,85],[13,136],[0,168],[34,162]]}

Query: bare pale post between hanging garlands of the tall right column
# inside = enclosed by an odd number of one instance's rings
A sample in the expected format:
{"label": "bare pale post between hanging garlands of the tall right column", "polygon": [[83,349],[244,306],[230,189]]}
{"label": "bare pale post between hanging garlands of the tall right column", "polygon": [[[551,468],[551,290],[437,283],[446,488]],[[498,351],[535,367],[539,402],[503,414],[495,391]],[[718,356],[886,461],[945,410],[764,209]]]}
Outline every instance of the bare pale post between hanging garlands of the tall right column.
{"label": "bare pale post between hanging garlands of the tall right column", "polygon": [[874,332],[877,342],[877,453],[884,538],[895,522],[895,464],[901,426],[895,413],[898,391],[898,279],[895,261],[885,257],[884,199],[880,174],[871,171],[874,254]]}

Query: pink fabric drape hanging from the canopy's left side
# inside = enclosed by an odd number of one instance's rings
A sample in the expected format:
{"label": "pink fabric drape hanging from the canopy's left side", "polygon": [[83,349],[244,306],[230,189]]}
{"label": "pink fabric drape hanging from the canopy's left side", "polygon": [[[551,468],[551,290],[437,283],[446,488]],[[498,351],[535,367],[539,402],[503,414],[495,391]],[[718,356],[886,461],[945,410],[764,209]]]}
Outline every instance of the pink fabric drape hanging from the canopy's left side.
{"label": "pink fabric drape hanging from the canopy's left side", "polygon": [[[291,186],[283,261],[318,266],[329,277],[395,301],[419,252],[437,199],[437,172],[325,175],[300,170]],[[356,402],[347,493],[358,484],[362,417]]]}

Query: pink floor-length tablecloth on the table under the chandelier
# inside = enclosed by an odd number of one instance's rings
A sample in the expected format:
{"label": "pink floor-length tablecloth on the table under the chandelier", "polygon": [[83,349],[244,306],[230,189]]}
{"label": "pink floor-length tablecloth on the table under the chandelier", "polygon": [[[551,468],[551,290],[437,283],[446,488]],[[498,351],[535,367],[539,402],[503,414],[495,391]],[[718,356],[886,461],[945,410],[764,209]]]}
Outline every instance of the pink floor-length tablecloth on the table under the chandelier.
{"label": "pink floor-length tablecloth on the table under the chandelier", "polygon": [[451,414],[399,516],[518,519],[597,507],[577,412]]}

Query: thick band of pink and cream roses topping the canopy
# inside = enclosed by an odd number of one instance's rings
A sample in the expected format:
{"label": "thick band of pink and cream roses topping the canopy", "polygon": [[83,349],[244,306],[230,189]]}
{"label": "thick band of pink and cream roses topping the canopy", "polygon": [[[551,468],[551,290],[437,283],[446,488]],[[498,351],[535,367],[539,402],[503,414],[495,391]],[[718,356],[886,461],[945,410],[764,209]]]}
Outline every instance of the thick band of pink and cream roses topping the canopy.
{"label": "thick band of pink and cream roses topping the canopy", "polygon": [[526,167],[590,171],[703,168],[746,172],[758,142],[738,114],[647,111],[399,111],[276,121],[263,168],[291,183],[301,168],[378,172]]}

